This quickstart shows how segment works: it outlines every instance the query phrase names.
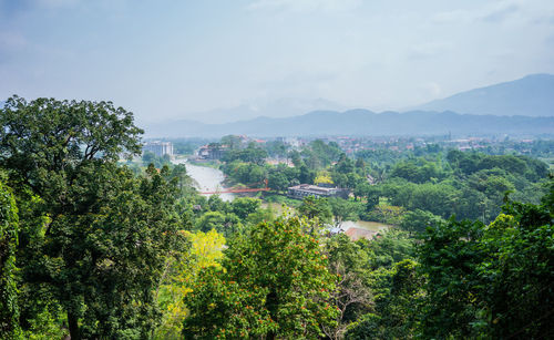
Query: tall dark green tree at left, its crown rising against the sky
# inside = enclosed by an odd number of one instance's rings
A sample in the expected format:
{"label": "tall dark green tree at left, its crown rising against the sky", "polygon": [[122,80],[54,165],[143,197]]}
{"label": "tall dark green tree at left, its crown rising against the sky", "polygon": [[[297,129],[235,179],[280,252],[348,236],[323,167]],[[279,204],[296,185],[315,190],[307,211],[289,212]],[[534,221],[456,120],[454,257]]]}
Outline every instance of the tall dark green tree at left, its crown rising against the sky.
{"label": "tall dark green tree at left, its crown rising against the sky", "polygon": [[[116,165],[141,152],[132,114],[110,102],[13,96],[0,124],[0,165],[22,212],[23,320],[44,293],[65,311],[72,339],[148,333],[152,291],[164,255],[179,247],[179,223],[167,168],[137,179]],[[25,206],[34,196],[39,204]]]}

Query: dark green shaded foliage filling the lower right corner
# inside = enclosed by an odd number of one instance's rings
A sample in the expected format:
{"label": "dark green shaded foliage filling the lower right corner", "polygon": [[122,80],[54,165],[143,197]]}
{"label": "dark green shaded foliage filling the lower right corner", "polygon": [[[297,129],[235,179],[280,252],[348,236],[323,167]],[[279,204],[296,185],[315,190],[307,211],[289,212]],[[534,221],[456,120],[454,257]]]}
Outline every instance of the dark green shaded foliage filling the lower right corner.
{"label": "dark green shaded foliage filling the lower right corner", "polygon": [[424,337],[552,337],[554,186],[541,205],[509,202],[485,226],[428,228],[420,249]]}

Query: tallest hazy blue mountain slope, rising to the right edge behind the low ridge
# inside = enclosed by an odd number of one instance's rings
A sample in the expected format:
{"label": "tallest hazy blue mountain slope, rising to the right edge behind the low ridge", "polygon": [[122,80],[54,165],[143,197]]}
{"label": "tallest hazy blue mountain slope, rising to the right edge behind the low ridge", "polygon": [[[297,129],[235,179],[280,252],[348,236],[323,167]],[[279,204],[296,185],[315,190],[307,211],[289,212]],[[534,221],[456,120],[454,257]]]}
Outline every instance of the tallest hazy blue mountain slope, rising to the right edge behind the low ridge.
{"label": "tallest hazy blue mountain slope, rising to the right edge behind the low ridge", "polygon": [[423,111],[469,114],[554,116],[554,75],[531,74],[520,80],[475,89],[417,106]]}

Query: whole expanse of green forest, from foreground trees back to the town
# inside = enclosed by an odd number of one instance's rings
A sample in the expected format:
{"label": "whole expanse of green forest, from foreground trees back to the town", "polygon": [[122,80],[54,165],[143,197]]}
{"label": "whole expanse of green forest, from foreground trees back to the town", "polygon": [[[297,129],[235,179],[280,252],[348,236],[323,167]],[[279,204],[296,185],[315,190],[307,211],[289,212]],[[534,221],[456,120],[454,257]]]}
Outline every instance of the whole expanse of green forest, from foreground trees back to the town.
{"label": "whole expanse of green forest, from foreground trees back to the town", "polygon": [[[142,155],[111,102],[13,96],[0,124],[2,339],[554,337],[554,179],[535,157],[226,136],[229,185],[271,190],[224,202]],[[352,195],[283,195],[306,183]],[[348,219],[391,227],[328,231]]]}

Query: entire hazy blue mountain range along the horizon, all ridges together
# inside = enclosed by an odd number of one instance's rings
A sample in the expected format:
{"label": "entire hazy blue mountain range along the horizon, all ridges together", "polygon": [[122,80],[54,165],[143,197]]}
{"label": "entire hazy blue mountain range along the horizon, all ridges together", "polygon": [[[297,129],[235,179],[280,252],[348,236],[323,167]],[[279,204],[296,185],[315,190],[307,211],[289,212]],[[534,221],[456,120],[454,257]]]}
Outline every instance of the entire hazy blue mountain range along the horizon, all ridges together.
{"label": "entire hazy blue mountain range along the horizon, all ridges together", "polygon": [[[554,134],[554,75],[552,74],[531,74],[520,80],[462,92],[403,113],[391,111],[375,113],[362,109],[341,112],[334,109],[288,116],[291,112],[296,113],[302,107],[318,104],[326,109],[338,106],[320,100],[319,103],[307,101],[266,103],[263,110],[256,109],[254,112],[252,107],[236,107],[227,112],[213,112],[212,116],[226,114],[226,121],[219,120],[217,124],[186,120],[148,124],[145,128],[146,136]],[[277,112],[279,115],[276,116]],[[267,113],[271,117],[245,119],[255,113]],[[233,119],[235,121],[229,122]],[[203,121],[212,120],[204,116]]]}

